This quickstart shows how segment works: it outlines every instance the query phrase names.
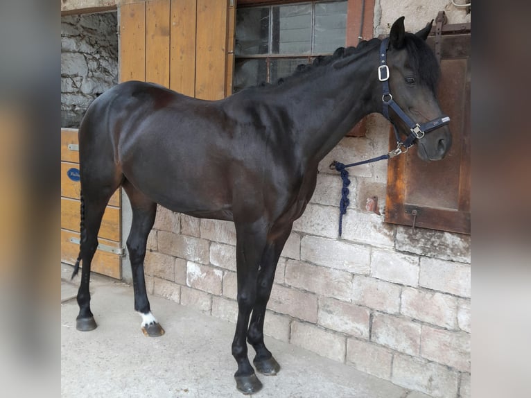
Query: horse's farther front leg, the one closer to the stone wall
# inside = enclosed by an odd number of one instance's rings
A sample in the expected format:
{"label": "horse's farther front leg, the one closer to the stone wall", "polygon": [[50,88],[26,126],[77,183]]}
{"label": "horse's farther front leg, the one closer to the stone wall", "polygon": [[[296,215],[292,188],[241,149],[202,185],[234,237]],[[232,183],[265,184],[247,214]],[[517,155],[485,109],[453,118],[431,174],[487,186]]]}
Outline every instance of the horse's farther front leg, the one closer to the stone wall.
{"label": "horse's farther front leg, the one closer to the stone wall", "polygon": [[275,238],[268,240],[268,244],[265,246],[256,284],[256,301],[252,310],[249,330],[247,331],[247,340],[256,352],[256,356],[254,356],[253,360],[254,367],[256,367],[258,372],[265,375],[275,375],[280,370],[279,363],[275,360],[267,347],[265,347],[263,341],[263,323],[265,320],[265,309],[275,279],[277,263],[282,249],[290,236],[292,225],[293,224],[290,223],[286,227],[277,231],[273,229],[271,235],[275,236]]}

